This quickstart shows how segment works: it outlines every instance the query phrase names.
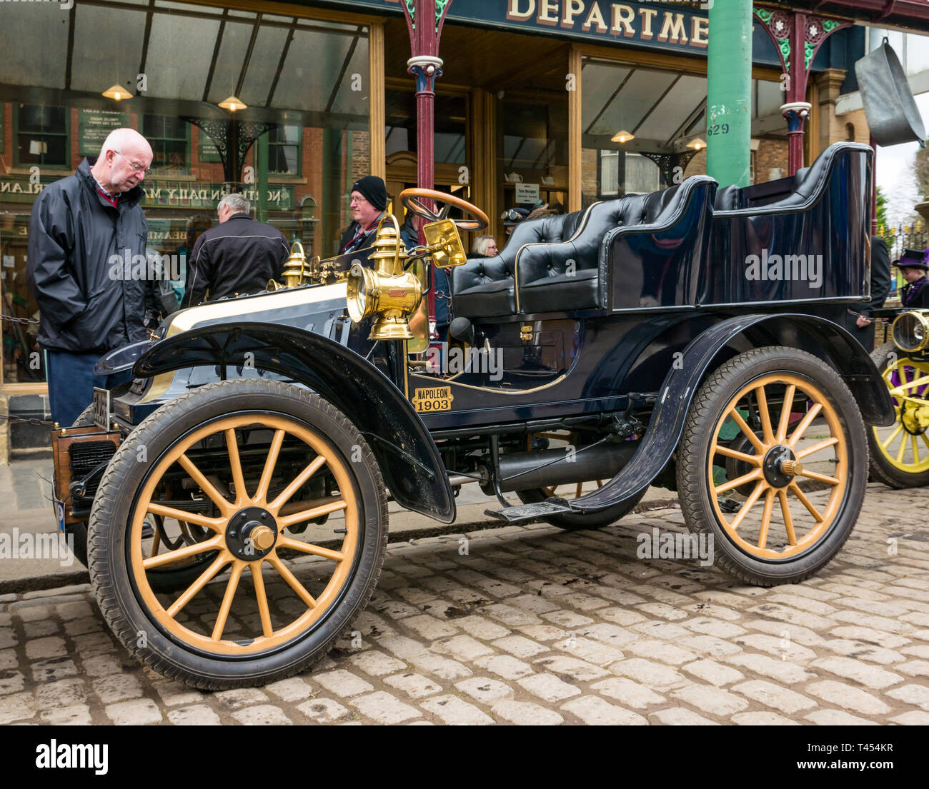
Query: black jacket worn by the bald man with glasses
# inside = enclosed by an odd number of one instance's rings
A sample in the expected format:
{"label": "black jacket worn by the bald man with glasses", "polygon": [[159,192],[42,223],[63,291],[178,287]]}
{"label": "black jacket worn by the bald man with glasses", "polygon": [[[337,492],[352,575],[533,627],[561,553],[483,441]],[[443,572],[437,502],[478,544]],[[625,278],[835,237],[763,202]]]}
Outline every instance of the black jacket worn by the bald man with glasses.
{"label": "black jacket worn by the bald man with glasses", "polygon": [[[26,278],[40,310],[39,344],[103,353],[144,340],[149,226],[134,187],[114,208],[99,194],[87,158],[74,175],[49,184],[33,203]],[[118,256],[112,259],[112,255]],[[126,276],[128,274],[129,276]]]}

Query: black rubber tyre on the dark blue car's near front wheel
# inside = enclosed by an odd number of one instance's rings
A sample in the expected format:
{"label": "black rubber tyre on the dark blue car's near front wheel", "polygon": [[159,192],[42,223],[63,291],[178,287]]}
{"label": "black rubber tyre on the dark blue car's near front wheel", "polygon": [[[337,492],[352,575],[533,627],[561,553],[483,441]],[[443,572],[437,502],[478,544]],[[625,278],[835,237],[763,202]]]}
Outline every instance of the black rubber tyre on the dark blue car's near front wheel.
{"label": "black rubber tyre on the dark blue car's near front wheel", "polygon": [[[293,640],[256,655],[204,653],[167,633],[150,615],[131,580],[126,524],[137,491],[164,453],[203,424],[236,411],[300,420],[345,461],[360,508],[358,550],[341,597],[321,620]],[[149,462],[137,462],[137,446]],[[357,453],[360,452],[360,455]],[[352,457],[360,462],[350,462]],[[385,485],[370,447],[331,404],[297,386],[275,381],[216,382],[177,397],[131,433],[104,472],[89,522],[90,579],[104,618],[125,648],[168,679],[203,690],[253,687],[284,679],[320,660],[371,599],[387,540]],[[138,634],[146,639],[140,641]],[[142,645],[140,645],[142,643]]]}

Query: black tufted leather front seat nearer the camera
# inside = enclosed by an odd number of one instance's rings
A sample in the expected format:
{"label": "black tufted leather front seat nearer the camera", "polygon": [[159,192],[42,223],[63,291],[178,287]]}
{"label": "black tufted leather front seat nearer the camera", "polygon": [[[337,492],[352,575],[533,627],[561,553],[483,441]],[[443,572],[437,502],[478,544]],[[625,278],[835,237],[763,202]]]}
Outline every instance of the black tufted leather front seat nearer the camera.
{"label": "black tufted leather front seat nearer the camera", "polygon": [[[530,244],[517,252],[517,308],[544,313],[607,307],[608,255],[604,237],[617,227],[665,226],[683,213],[694,188],[715,181],[694,175],[677,186],[588,209],[574,237],[561,243]],[[573,263],[571,263],[573,261]]]}

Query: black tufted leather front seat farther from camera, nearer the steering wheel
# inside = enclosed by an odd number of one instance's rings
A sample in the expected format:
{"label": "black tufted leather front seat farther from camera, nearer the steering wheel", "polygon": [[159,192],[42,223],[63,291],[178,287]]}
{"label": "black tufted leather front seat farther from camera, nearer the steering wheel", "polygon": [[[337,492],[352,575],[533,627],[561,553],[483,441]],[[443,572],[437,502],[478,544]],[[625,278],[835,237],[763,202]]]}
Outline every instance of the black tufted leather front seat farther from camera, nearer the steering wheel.
{"label": "black tufted leather front seat farther from camera, nearer the steering wheel", "polygon": [[452,268],[451,305],[455,317],[515,315],[518,252],[526,244],[553,243],[570,238],[585,213],[576,211],[521,222],[499,254],[475,258]]}

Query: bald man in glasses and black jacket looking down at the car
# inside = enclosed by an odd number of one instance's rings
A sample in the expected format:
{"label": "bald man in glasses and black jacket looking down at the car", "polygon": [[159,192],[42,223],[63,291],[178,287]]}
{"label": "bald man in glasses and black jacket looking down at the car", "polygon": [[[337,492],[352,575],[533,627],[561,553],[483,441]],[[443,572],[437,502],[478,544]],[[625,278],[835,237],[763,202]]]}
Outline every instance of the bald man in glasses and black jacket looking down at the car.
{"label": "bald man in glasses and black jacket looking down at the car", "polygon": [[39,305],[52,418],[71,425],[128,373],[94,374],[98,358],[147,337],[149,226],[139,205],[152,153],[134,129],[116,129],[99,156],[42,190],[29,222],[27,278]]}

